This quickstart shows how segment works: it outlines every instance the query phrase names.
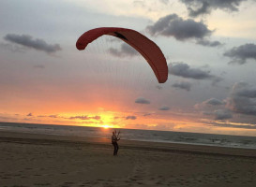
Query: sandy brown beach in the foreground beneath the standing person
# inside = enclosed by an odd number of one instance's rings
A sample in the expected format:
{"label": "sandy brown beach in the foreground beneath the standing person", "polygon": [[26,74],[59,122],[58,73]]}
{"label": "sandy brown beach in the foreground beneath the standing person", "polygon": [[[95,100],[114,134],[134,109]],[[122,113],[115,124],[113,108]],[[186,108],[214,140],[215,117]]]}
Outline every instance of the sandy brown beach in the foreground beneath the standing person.
{"label": "sandy brown beach in the foreground beneath the standing person", "polygon": [[0,131],[0,186],[256,186],[256,150]]}

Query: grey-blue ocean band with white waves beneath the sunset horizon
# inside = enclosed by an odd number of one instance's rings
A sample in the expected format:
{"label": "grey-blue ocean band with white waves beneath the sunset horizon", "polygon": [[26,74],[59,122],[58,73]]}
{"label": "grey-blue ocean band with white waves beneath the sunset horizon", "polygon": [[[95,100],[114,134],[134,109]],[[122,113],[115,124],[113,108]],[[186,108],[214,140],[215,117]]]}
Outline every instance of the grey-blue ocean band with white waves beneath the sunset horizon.
{"label": "grey-blue ocean band with white waves beneath the sunset horizon", "polygon": [[[128,140],[256,149],[256,137],[139,129],[116,130],[117,132],[120,131],[121,139]],[[111,138],[113,129],[86,126],[0,122],[0,131],[58,136]]]}

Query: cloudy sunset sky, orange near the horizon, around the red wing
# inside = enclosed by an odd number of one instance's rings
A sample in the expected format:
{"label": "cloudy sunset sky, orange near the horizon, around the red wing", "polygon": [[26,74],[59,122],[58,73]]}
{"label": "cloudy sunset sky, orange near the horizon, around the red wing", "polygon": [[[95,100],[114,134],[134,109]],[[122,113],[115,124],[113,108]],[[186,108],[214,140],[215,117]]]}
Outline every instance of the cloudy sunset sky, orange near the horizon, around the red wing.
{"label": "cloudy sunset sky, orange near the horizon, around the red wing", "polygon": [[[254,0],[1,1],[0,122],[255,137],[255,17]],[[77,50],[98,27],[154,41],[168,80],[113,36]]]}

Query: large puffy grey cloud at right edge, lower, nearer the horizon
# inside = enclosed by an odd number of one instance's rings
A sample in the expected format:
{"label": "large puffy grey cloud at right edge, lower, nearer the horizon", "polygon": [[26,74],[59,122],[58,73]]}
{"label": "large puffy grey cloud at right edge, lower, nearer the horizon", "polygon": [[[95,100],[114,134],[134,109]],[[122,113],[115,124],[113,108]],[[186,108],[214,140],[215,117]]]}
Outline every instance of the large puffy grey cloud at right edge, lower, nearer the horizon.
{"label": "large puffy grey cloud at right edge, lower, nearer the horizon", "polygon": [[226,100],[226,107],[232,111],[256,115],[256,87],[251,87],[246,82],[236,82],[232,93]]}

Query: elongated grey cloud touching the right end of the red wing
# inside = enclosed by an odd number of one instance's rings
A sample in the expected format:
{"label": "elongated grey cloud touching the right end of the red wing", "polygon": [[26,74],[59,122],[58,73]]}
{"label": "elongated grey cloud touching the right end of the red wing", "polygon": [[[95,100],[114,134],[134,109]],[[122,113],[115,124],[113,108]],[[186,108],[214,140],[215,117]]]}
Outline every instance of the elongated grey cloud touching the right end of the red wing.
{"label": "elongated grey cloud touching the right end of the red wing", "polygon": [[212,80],[213,85],[221,80],[221,78],[212,75],[210,71],[203,71],[199,68],[191,68],[185,63],[169,64],[169,73],[174,76],[188,79],[210,79]]}

